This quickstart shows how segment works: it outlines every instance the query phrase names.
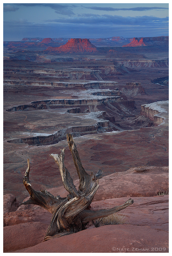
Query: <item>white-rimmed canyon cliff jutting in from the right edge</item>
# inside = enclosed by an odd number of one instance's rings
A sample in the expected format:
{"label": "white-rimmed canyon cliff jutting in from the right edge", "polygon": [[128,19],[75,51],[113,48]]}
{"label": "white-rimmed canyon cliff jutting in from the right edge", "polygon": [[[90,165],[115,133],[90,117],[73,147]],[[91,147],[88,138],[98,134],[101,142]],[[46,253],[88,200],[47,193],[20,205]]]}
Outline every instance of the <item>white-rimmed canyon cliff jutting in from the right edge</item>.
{"label": "white-rimmed canyon cliff jutting in from the right edge", "polygon": [[168,101],[158,101],[141,105],[141,115],[148,117],[154,126],[162,124],[167,118]]}

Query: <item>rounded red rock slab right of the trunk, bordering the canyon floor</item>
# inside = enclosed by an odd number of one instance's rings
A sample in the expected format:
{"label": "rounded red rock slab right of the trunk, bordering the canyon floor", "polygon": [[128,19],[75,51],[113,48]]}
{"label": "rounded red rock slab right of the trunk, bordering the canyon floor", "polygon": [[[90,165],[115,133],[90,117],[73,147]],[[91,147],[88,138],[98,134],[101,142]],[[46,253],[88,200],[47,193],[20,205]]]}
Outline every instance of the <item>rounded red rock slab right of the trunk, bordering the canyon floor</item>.
{"label": "rounded red rock slab right of the trunk, bordering the canyon floor", "polygon": [[154,196],[159,190],[167,191],[168,188],[168,167],[140,166],[104,176],[93,201],[123,196]]}

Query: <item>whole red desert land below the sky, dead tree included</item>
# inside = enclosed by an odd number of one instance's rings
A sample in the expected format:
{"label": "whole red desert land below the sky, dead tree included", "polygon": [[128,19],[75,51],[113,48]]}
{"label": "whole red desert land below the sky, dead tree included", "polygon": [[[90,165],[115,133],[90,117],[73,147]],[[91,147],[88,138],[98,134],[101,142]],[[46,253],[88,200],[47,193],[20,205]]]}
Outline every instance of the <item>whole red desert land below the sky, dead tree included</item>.
{"label": "whole red desert land below the sky, dead tree included", "polygon": [[4,41],[5,253],[169,252],[168,61],[168,36]]}

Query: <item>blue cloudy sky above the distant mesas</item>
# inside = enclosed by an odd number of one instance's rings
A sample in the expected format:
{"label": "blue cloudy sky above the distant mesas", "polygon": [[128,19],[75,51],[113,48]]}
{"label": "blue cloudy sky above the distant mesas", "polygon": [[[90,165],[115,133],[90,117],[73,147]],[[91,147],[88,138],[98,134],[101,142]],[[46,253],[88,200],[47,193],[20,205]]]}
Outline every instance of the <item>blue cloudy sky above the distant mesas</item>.
{"label": "blue cloudy sky above the distant mesas", "polygon": [[168,3],[4,2],[4,40],[168,36]]}

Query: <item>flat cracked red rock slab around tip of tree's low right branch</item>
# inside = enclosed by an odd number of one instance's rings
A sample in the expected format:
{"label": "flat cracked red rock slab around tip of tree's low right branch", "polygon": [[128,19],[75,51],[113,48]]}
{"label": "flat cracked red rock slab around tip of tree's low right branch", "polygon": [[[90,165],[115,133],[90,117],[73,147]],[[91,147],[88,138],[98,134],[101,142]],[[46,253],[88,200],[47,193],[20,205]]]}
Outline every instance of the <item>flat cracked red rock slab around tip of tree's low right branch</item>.
{"label": "flat cracked red rock slab around tip of tree's low right branch", "polygon": [[[168,197],[168,195],[131,197],[134,203],[115,213],[115,217],[123,216],[122,221],[132,225],[149,226],[152,229],[168,231]],[[96,201],[91,204],[91,208],[93,210],[109,209],[124,204],[128,199],[123,197]]]}

